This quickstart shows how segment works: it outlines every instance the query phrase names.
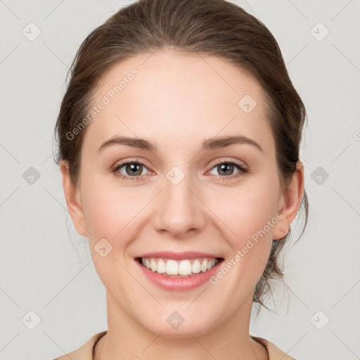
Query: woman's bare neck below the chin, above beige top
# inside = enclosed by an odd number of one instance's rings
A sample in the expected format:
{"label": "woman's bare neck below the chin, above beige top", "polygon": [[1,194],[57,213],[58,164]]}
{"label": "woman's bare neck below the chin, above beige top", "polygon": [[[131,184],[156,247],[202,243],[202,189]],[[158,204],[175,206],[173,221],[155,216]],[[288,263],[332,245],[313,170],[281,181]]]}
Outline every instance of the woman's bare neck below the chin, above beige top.
{"label": "woman's bare neck below the chin, above beige top", "polygon": [[252,297],[219,326],[202,334],[167,338],[134,321],[107,293],[108,333],[96,344],[94,360],[268,359],[266,349],[249,335]]}

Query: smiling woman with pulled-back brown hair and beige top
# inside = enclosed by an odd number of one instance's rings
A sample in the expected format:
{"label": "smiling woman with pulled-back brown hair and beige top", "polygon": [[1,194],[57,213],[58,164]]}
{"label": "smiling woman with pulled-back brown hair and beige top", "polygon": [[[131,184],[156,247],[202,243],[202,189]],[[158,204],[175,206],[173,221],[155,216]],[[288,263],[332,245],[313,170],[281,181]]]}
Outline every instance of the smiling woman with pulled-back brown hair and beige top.
{"label": "smiling woman with pulled-back brown hair and beige top", "polygon": [[108,330],[58,359],[293,359],[249,334],[300,207],[304,105],[269,30],[142,0],[85,39],[56,135]]}

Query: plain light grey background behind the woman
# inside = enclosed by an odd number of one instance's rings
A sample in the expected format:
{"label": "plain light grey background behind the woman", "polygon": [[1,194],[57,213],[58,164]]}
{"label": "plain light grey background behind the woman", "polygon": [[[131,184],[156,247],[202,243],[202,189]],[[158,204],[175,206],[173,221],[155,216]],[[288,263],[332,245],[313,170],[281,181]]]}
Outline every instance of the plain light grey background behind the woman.
{"label": "plain light grey background behind the woman", "polygon": [[[53,162],[53,127],[79,45],[124,4],[0,1],[2,360],[53,359],[107,329],[105,288]],[[276,307],[269,303],[277,314],[263,310],[251,333],[297,359],[360,359],[360,1],[237,4],[273,32],[309,119],[309,224],[295,245],[293,228],[287,286],[278,286]],[[22,33],[36,34],[30,22],[41,30],[34,41]]]}

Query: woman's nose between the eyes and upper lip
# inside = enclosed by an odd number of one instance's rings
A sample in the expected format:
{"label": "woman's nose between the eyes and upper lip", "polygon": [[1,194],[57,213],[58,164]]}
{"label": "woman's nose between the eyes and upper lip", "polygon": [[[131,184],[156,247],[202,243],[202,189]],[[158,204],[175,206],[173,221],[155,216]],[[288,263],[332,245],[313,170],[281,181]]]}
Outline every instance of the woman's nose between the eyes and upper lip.
{"label": "woman's nose between the eyes and upper lip", "polygon": [[161,233],[172,238],[186,239],[203,230],[205,226],[206,206],[200,191],[193,186],[191,176],[185,176],[179,184],[167,177],[164,189],[155,203],[153,224]]}

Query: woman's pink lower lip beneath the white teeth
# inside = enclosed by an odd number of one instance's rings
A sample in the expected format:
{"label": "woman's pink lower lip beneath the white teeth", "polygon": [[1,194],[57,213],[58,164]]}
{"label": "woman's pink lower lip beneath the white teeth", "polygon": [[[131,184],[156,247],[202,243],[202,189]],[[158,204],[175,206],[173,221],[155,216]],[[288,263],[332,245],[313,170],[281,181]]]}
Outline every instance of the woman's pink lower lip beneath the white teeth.
{"label": "woman's pink lower lip beneath the white teeth", "polygon": [[205,273],[201,271],[198,274],[186,278],[175,278],[158,274],[155,271],[151,271],[147,267],[142,266],[137,260],[135,260],[135,262],[140,266],[141,271],[143,271],[143,274],[148,280],[155,285],[158,285],[160,288],[172,291],[184,291],[198,288],[200,285],[203,285],[203,283],[206,283],[206,281],[209,281],[209,279],[217,273],[223,260],[220,260],[212,269],[205,271]]}

